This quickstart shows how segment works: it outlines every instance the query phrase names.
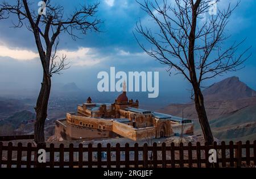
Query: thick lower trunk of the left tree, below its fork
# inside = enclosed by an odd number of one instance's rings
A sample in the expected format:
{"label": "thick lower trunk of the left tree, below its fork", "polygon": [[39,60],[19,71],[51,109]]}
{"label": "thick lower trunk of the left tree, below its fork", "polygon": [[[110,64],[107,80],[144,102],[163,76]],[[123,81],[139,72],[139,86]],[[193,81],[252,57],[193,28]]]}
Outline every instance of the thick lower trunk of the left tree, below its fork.
{"label": "thick lower trunk of the left tree, below its fork", "polygon": [[34,135],[36,143],[44,142],[44,122],[47,118],[47,106],[49,94],[51,91],[51,77],[44,72],[43,82],[38,100],[36,102],[36,122],[34,128]]}

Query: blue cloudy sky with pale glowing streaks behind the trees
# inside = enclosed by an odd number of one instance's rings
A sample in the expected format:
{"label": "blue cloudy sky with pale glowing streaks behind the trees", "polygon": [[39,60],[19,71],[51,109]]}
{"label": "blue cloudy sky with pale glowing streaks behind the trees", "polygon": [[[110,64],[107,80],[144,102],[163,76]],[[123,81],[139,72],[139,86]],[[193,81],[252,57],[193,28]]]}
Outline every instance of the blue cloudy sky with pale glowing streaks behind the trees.
{"label": "blue cloudy sky with pale glowing streaks behind the trees", "polygon": [[[0,1],[2,2],[2,0]],[[14,1],[8,1],[14,2]],[[31,6],[38,9],[37,2]],[[52,1],[64,6],[65,12],[71,12],[80,3],[85,1]],[[86,1],[94,3],[96,1]],[[226,2],[218,6],[225,7]],[[234,0],[230,1],[234,2]],[[229,76],[238,76],[251,88],[256,89],[256,1],[243,0],[230,18],[227,33],[232,37],[225,45],[232,44],[247,38],[243,44],[245,47],[252,45],[251,58],[246,61],[246,67],[236,73],[228,73],[217,77],[205,85],[214,81],[220,81]],[[141,20],[144,24],[154,27],[147,14],[141,10],[134,0],[100,0],[97,13],[98,18],[104,21],[101,24],[101,33],[89,32],[82,39],[73,41],[70,36],[60,36],[58,53],[67,55],[71,68],[65,70],[61,76],[53,77],[53,88],[56,83],[75,82],[81,89],[97,90],[98,72],[109,71],[110,66],[123,71],[159,71],[160,93],[188,94],[191,88],[182,76],[169,76],[167,66],[148,57],[139,47],[134,38],[135,24]],[[0,20],[0,88],[40,88],[42,81],[42,68],[38,59],[34,38],[26,27],[11,28],[15,17]]]}

